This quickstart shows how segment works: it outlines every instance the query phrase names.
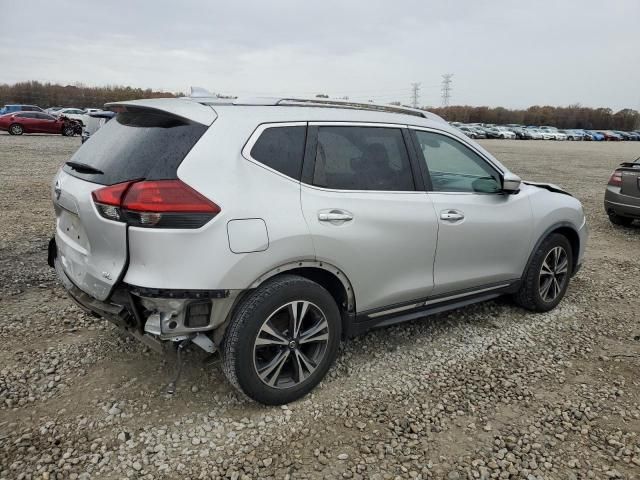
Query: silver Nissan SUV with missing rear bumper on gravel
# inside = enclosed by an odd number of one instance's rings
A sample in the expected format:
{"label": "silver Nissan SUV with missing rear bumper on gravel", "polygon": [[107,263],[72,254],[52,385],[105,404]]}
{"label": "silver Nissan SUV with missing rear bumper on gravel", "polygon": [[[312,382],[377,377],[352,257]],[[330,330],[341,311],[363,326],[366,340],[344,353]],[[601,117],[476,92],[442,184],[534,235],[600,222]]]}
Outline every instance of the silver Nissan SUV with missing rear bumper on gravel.
{"label": "silver Nissan SUV with missing rear bumper on gravel", "polygon": [[509,294],[554,308],[580,202],[521,182],[436,115],[323,100],[110,105],[57,174],[49,263],[83,308],[160,351],[219,351],[295,400],[341,340]]}

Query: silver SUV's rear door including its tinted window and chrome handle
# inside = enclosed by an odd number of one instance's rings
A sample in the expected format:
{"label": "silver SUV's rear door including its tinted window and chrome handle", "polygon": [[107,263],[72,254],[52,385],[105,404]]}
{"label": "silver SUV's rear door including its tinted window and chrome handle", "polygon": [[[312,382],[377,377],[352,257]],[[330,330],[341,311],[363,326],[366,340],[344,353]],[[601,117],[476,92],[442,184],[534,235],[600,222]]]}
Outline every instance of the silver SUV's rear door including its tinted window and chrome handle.
{"label": "silver SUV's rear door including its tinted window and chrome handle", "polygon": [[428,296],[438,226],[406,130],[311,123],[308,139],[301,203],[317,259],[351,281],[359,313]]}

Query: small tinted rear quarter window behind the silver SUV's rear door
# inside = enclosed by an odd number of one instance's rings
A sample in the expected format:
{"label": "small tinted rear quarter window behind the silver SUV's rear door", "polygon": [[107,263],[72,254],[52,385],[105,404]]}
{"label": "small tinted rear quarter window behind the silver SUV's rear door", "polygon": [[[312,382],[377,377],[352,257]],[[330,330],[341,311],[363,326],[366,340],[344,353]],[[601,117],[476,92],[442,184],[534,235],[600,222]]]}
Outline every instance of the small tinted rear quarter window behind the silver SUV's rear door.
{"label": "small tinted rear quarter window behind the silver SUV's rear door", "polygon": [[251,158],[284,175],[300,180],[307,127],[266,128],[251,148]]}

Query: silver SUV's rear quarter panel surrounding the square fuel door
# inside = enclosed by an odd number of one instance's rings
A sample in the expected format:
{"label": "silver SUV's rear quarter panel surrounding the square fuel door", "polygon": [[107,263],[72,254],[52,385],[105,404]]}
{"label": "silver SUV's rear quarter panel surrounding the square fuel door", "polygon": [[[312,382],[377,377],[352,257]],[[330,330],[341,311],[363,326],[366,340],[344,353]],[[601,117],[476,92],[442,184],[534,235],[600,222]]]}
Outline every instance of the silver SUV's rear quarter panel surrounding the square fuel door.
{"label": "silver SUV's rear quarter panel surrounding the square fuel door", "polygon": [[[258,122],[225,112],[187,155],[178,177],[220,206],[198,230],[129,229],[125,282],[153,288],[245,289],[276,267],[315,258],[300,183],[242,157]],[[268,248],[234,253],[228,222],[262,219]]]}

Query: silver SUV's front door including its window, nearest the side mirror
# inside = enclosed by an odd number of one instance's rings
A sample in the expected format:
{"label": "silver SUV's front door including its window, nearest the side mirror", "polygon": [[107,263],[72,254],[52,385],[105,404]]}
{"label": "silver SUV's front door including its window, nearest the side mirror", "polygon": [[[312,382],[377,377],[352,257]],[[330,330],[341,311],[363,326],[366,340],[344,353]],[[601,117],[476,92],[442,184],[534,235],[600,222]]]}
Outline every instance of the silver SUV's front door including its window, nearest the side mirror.
{"label": "silver SUV's front door including its window, nearest the side mirror", "polygon": [[526,189],[503,193],[498,167],[453,136],[413,134],[439,224],[433,295],[519,279],[533,233]]}

